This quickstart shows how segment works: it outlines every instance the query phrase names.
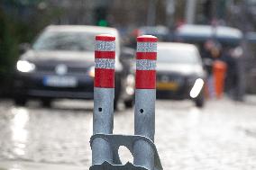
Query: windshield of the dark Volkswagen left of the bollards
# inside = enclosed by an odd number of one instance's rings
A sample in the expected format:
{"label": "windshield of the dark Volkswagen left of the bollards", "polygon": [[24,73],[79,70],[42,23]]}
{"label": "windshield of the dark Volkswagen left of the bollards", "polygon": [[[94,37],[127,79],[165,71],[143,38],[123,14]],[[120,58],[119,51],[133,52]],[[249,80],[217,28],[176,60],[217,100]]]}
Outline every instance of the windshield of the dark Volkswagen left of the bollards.
{"label": "windshield of the dark Volkswagen left of the bollards", "polygon": [[82,31],[46,31],[33,45],[34,50],[94,51],[95,34]]}

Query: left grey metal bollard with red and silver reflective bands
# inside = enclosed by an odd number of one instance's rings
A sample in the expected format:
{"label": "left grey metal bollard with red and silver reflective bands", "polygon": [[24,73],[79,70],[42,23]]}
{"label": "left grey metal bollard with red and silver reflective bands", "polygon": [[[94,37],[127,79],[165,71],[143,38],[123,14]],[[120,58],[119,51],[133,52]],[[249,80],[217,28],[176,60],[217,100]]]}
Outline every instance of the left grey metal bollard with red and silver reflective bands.
{"label": "left grey metal bollard with red and silver reflective bands", "polygon": [[[97,35],[95,47],[95,89],[94,89],[94,126],[95,134],[112,134],[114,124],[114,58],[115,37]],[[113,162],[110,144],[105,139],[92,142],[92,164],[100,165],[105,161]]]}

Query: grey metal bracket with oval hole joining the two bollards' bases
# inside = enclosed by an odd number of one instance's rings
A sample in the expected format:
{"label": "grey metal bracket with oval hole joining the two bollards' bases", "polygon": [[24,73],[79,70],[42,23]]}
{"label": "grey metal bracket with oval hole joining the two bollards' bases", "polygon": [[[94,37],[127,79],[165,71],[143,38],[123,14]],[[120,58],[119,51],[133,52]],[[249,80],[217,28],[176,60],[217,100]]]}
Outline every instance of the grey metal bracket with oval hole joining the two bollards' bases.
{"label": "grey metal bracket with oval hole joining the two bollards' bases", "polygon": [[122,162],[118,155],[118,148],[121,146],[128,148],[133,155],[133,144],[137,140],[143,140],[150,144],[151,148],[154,150],[154,169],[153,170],[162,170],[157,148],[155,147],[151,139],[148,139],[146,137],[139,136],[139,135],[126,136],[126,135],[96,134],[91,137],[90,144],[92,145],[93,140],[97,138],[105,139],[105,141],[107,141],[110,144],[113,151],[113,164],[104,162],[102,165],[91,166],[90,170],[148,170],[142,166],[134,166],[129,162],[125,165],[122,165]]}

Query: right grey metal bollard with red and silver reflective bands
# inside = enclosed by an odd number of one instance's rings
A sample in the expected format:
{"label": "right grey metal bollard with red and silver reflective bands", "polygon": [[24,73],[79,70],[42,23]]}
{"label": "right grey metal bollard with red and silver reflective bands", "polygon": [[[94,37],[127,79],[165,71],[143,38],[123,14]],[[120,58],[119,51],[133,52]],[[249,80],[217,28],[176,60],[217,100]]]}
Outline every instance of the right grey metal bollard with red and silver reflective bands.
{"label": "right grey metal bollard with red and silver reflective bands", "polygon": [[[135,135],[154,141],[156,100],[157,38],[143,35],[137,38],[136,91],[135,91]],[[154,167],[154,151],[145,140],[134,142],[135,166],[149,170]]]}

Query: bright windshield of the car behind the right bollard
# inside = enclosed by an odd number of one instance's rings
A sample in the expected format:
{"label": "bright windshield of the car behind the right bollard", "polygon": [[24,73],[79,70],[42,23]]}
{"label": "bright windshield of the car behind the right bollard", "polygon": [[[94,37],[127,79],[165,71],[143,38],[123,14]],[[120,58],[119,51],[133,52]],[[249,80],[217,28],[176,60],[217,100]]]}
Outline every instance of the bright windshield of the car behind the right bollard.
{"label": "bright windshield of the car behind the right bollard", "polygon": [[197,64],[197,52],[191,49],[158,49],[158,62],[174,64]]}

